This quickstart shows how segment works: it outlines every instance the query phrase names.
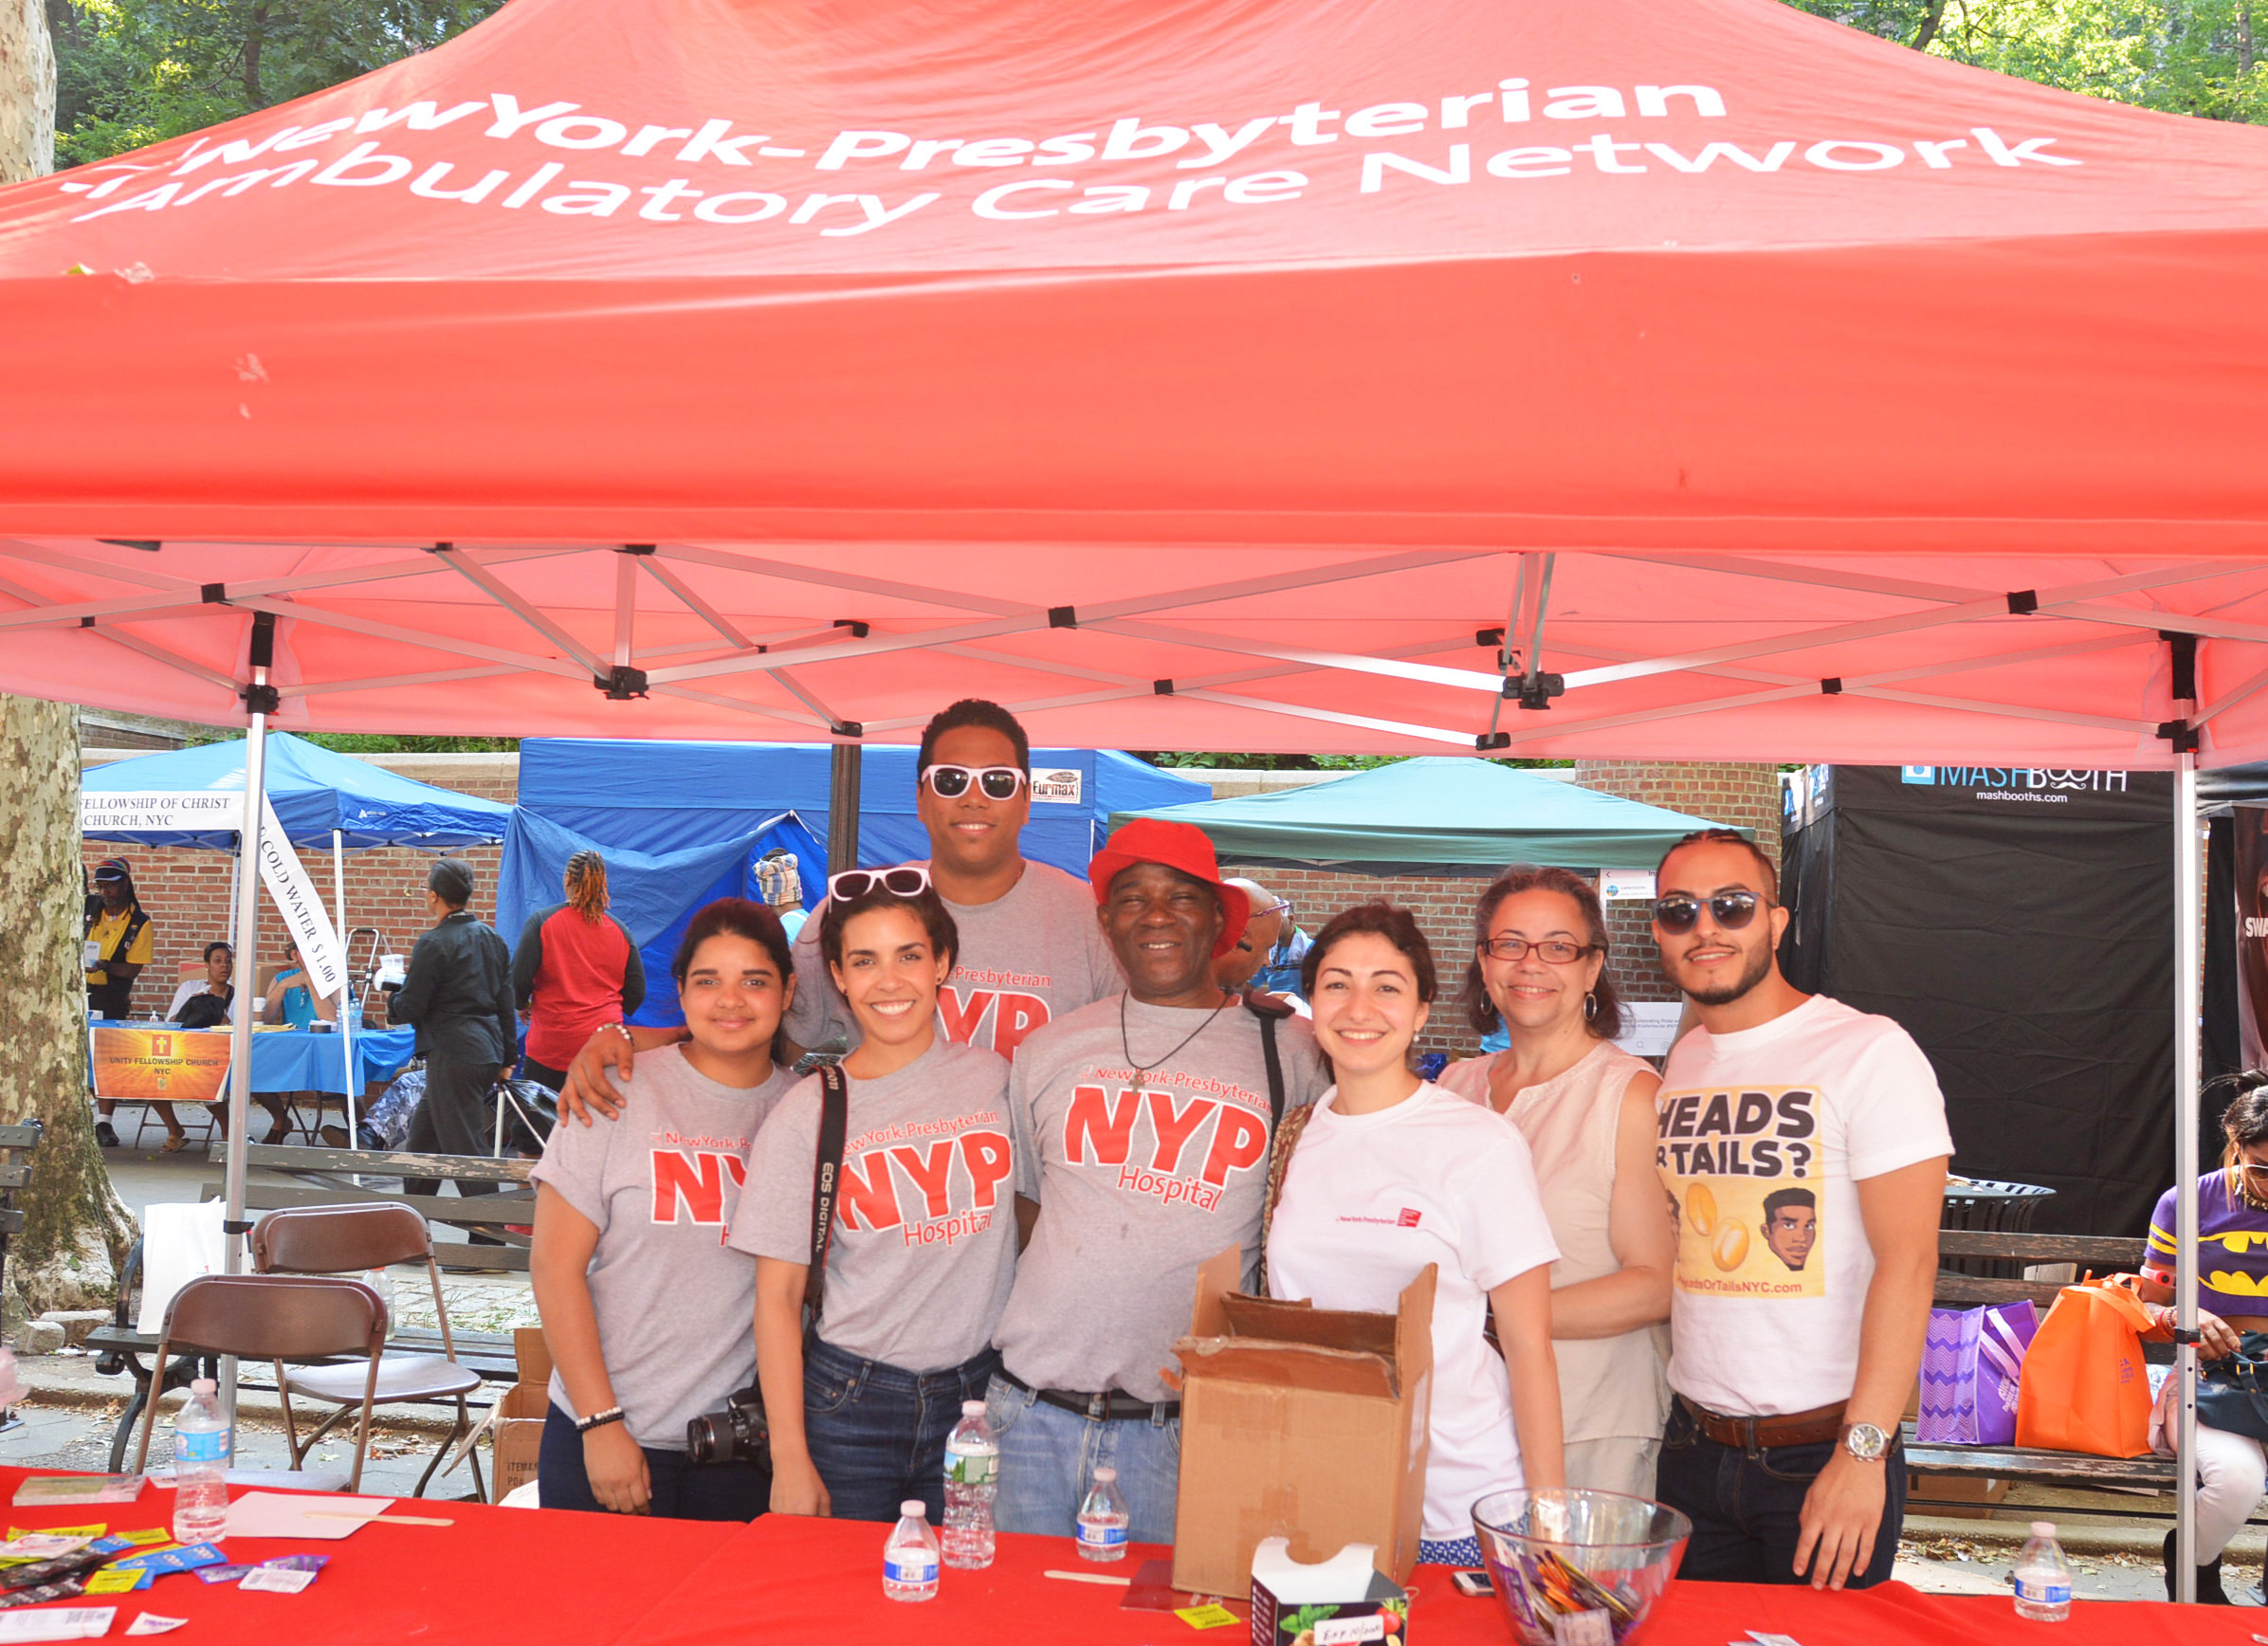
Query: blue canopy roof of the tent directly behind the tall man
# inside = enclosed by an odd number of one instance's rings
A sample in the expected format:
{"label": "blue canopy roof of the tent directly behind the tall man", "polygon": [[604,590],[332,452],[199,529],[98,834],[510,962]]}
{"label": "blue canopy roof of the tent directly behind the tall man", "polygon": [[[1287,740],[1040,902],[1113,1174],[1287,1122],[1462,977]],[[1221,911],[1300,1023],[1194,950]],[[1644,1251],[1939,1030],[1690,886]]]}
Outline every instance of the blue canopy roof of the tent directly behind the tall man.
{"label": "blue canopy roof of the tent directly behind the tall man", "polygon": [[[914,748],[866,748],[860,771],[860,864],[930,855],[914,816]],[[812,839],[828,839],[828,744],[655,744],[531,737],[519,746],[519,805],[590,834],[599,850],[678,850],[748,834],[762,818],[794,812]],[[1034,748],[1032,821],[1023,855],[1084,875],[1109,832],[1111,812],[1209,800],[1211,787],[1175,778],[1109,748]],[[1048,773],[1064,773],[1048,782]],[[1077,798],[1055,800],[1048,794]],[[826,852],[803,862],[812,902],[826,886]]]}

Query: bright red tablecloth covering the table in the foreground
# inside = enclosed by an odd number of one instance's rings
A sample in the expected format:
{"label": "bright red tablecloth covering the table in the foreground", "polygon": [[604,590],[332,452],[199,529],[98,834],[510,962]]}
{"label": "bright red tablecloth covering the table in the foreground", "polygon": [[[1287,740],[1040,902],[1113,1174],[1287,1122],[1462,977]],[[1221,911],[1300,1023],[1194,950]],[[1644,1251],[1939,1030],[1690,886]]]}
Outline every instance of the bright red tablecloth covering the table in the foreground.
{"label": "bright red tablecloth covering the table in the foreground", "polygon": [[[25,1469],[0,1469],[0,1501]],[[23,1528],[107,1521],[111,1530],[163,1526],[172,1494],[145,1487],[138,1503],[7,1510]],[[767,1515],[753,1526],[649,1521],[615,1515],[494,1510],[479,1503],[401,1499],[404,1515],[456,1521],[365,1526],[340,1542],[229,1539],[243,1562],[324,1553],[331,1564],[304,1594],[240,1594],[193,1573],[120,1596],[111,1637],[141,1612],[186,1617],[168,1646],[1243,1646],[1241,1628],[1195,1632],[1170,1612],[1127,1612],[1123,1589],[1061,1583],[1077,1571],[1070,1539],[1000,1537],[989,1571],[946,1571],[939,1598],[882,1598],[887,1526]],[[1161,1549],[1136,1549],[1116,1571],[1132,1576]],[[1093,1569],[1109,1571],[1109,1569]],[[1510,1646],[1495,1601],[1467,1601],[1438,1567],[1413,1578],[1413,1646]],[[1733,1583],[1683,1583],[1662,1601],[1644,1646],[1726,1646],[1751,1628],[1801,1646],[2023,1646],[2032,1626],[1998,1596],[1948,1598],[1889,1583],[1867,1594]],[[2132,1641],[2250,1644],[2252,1607],[2093,1603],[2039,1635],[2039,1646]]]}

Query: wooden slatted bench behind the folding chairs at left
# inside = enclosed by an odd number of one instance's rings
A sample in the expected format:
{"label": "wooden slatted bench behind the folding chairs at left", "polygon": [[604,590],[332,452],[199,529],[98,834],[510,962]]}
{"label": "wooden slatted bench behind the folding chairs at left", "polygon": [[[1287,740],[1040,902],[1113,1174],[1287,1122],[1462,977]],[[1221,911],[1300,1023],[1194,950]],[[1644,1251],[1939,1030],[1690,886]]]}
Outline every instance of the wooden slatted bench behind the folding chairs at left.
{"label": "wooden slatted bench behind the folding chairs at left", "polygon": [[[0,1134],[7,1131],[9,1127],[0,1127]],[[7,1147],[5,1136],[0,1136],[0,1147]],[[213,1159],[225,1159],[225,1143],[215,1143],[211,1149]],[[302,1149],[274,1143],[249,1145],[245,1149],[245,1159],[249,1165],[311,1179],[302,1183],[247,1183],[247,1213],[279,1211],[284,1206],[354,1206],[370,1202],[397,1202],[413,1206],[426,1217],[426,1222],[479,1229],[501,1242],[469,1245],[435,1240],[433,1256],[445,1267],[517,1272],[526,1272],[528,1267],[528,1238],[510,1233],[506,1224],[526,1224],[535,1215],[535,1195],[526,1188],[528,1168],[535,1165],[535,1161],[492,1161],[458,1154]],[[0,1183],[7,1181],[5,1172],[7,1168],[0,1168]],[[499,1183],[506,1188],[497,1195],[474,1197],[401,1195],[356,1183],[354,1177],[438,1177],[456,1183]],[[222,1193],[225,1188],[220,1183],[204,1186],[204,1199],[218,1199]],[[483,1215],[472,1217],[472,1211]],[[20,1213],[16,1215],[20,1217]],[[152,1358],[156,1356],[156,1338],[134,1329],[134,1320],[138,1317],[136,1281],[141,1276],[141,1242],[136,1240],[132,1254],[127,1256],[127,1265],[118,1276],[118,1301],[111,1308],[111,1320],[86,1335],[86,1347],[95,1349],[100,1356],[95,1360],[95,1372],[104,1376],[127,1374],[134,1378],[134,1397],[127,1401],[127,1410],[120,1415],[118,1431],[111,1437],[111,1471],[118,1471],[125,1465],[125,1451],[127,1442],[134,1437],[134,1424],[141,1422],[143,1406],[150,1399],[163,1399],[172,1390],[184,1390],[191,1378],[218,1376],[213,1356],[188,1354],[175,1356],[161,1381],[154,1376]],[[449,1335],[456,1340],[456,1363],[469,1372],[479,1372],[483,1383],[508,1385],[519,1378],[519,1363],[513,1354],[510,1333],[458,1331],[451,1326]],[[433,1326],[390,1329],[386,1349],[390,1354],[440,1354],[440,1331]],[[243,1388],[272,1388],[272,1374],[268,1367],[245,1363],[240,1365],[238,1376]],[[156,1383],[154,1390],[152,1383]]]}

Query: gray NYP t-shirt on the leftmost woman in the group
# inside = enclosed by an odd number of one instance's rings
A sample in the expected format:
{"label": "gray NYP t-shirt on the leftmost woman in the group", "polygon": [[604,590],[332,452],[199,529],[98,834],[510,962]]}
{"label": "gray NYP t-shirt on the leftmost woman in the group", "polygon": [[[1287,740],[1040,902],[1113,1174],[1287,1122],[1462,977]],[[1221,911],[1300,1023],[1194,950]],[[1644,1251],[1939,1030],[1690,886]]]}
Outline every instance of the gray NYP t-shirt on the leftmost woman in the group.
{"label": "gray NYP t-shirt on the leftmost woman in the group", "polygon": [[[796,1084],[721,1086],[667,1045],[642,1052],[617,1120],[560,1122],[528,1172],[599,1229],[590,1301],[624,1426],[685,1451],[685,1419],[755,1378],[755,1263],[726,1247],[748,1145]],[[551,1403],[587,1417],[551,1374]]]}

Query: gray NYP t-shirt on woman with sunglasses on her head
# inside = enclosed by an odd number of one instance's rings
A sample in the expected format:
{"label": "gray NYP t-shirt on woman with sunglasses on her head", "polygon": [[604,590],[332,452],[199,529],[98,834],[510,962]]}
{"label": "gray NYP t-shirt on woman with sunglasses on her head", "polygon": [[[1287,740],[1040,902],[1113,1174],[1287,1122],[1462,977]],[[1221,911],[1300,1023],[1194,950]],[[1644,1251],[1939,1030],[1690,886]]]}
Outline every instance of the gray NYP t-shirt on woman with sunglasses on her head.
{"label": "gray NYP t-shirt on woman with sunglasses on her head", "polygon": [[[819,1100],[812,1075],[758,1134],[737,1252],[810,1261]],[[882,1079],[853,1079],[819,1338],[905,1372],[984,1349],[1016,1274],[1014,1188],[1002,1059],[937,1041]]]}

